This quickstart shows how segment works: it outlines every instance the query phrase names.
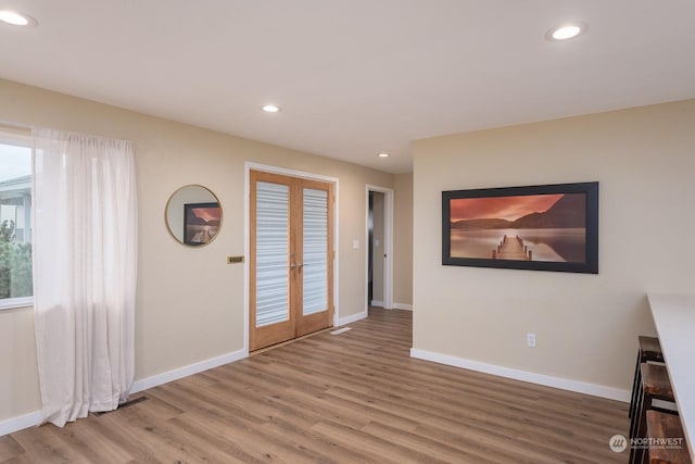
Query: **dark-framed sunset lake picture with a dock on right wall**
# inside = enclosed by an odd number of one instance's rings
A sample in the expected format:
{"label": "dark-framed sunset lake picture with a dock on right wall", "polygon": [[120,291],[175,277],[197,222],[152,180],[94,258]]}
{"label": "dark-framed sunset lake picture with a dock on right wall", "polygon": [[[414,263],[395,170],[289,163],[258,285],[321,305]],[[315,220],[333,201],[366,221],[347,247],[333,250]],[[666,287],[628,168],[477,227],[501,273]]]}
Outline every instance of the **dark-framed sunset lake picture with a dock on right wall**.
{"label": "dark-framed sunset lake picture with a dock on right wall", "polygon": [[443,191],[442,264],[598,274],[598,183]]}

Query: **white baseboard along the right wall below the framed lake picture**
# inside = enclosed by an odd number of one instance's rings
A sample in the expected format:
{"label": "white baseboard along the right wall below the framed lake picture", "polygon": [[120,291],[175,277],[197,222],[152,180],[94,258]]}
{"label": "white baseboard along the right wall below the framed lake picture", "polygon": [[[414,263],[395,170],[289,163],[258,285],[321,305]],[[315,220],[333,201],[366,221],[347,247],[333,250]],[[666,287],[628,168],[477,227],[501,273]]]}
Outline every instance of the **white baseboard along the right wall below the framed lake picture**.
{"label": "white baseboard along the right wall below the framed lake picture", "polygon": [[477,371],[484,374],[492,374],[500,377],[513,378],[515,380],[543,385],[546,387],[558,388],[560,390],[569,390],[578,393],[591,394],[593,397],[622,401],[626,403],[630,402],[630,391],[621,390],[619,388],[606,387],[597,384],[589,384],[585,381],[571,380],[561,377],[553,377],[545,374],[536,374],[510,367],[497,366],[494,364],[481,363],[479,361],[466,360],[463,358],[435,353],[432,351],[418,350],[415,348],[410,349],[410,358],[417,358],[418,360],[432,361],[440,364],[446,364],[448,366]]}

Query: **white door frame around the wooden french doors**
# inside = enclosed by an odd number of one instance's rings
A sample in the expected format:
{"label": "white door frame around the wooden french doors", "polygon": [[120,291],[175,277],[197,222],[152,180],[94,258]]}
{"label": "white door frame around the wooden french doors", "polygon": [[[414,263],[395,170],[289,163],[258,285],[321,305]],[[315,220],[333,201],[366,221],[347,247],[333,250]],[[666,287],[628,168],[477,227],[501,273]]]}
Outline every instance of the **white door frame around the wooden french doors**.
{"label": "white door frame around the wooden french doors", "polygon": [[338,304],[338,302],[340,301],[340,286],[338,285],[338,283],[340,281],[338,274],[338,269],[340,268],[340,266],[338,265],[338,260],[340,258],[340,254],[338,253],[338,243],[340,243],[340,241],[338,240],[340,233],[340,227],[338,224],[338,205],[340,203],[340,197],[338,195],[338,177],[323,176],[319,174],[287,170],[285,167],[269,166],[267,164],[258,164],[247,161],[244,163],[243,192],[243,221],[245,224],[243,230],[243,253],[245,256],[243,264],[243,308],[245,309],[243,313],[243,350],[247,356],[249,355],[249,319],[251,312],[251,306],[249,304],[249,256],[251,256],[251,171],[262,171],[264,173],[281,174],[285,176],[301,177],[303,179],[320,180],[333,185],[333,251],[336,253],[336,259],[333,260],[333,325],[338,325],[338,321],[340,321],[340,305]]}

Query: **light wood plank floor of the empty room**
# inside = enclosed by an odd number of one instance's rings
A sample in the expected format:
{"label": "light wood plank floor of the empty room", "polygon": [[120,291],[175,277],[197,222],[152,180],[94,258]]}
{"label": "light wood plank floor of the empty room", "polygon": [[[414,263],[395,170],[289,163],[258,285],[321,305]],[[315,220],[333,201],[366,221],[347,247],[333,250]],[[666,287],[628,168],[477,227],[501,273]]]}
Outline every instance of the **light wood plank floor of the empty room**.
{"label": "light wood plank floor of the empty room", "polygon": [[627,462],[627,404],[410,359],[406,311],[350,327],[2,437],[0,462]]}

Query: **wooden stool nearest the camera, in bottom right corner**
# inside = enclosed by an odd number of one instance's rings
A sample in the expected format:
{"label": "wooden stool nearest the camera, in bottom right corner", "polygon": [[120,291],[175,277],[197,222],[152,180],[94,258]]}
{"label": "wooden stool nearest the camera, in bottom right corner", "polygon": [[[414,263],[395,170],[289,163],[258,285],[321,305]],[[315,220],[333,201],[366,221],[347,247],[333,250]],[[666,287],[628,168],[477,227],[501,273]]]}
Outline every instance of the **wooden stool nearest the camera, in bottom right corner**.
{"label": "wooden stool nearest the camera, in bottom right corner", "polygon": [[647,438],[649,464],[692,464],[679,416],[647,411]]}

